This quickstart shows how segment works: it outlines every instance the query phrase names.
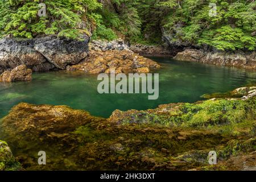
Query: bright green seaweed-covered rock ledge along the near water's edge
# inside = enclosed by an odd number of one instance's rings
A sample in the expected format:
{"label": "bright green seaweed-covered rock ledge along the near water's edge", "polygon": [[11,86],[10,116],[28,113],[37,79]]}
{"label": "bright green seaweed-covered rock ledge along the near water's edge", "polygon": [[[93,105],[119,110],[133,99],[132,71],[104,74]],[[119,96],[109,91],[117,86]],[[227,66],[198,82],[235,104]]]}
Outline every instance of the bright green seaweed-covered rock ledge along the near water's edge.
{"label": "bright green seaweed-covered rock ledge along the near water's edge", "polygon": [[152,123],[166,126],[208,127],[255,119],[256,97],[250,100],[216,99],[194,104],[166,104],[148,110],[115,110],[108,119],[118,124]]}

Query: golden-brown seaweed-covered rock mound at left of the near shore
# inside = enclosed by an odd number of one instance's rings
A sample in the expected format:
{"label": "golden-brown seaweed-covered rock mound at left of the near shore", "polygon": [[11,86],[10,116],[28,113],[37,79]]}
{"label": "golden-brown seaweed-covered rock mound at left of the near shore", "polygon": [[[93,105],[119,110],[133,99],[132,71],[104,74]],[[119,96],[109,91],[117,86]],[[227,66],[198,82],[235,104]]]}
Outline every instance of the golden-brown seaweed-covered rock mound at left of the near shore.
{"label": "golden-brown seaweed-covered rock mound at left of the near shore", "polygon": [[[19,119],[17,119],[19,118]],[[14,138],[39,139],[40,137],[65,137],[65,133],[89,122],[101,121],[84,110],[68,106],[32,105],[20,103],[3,118],[2,129]]]}

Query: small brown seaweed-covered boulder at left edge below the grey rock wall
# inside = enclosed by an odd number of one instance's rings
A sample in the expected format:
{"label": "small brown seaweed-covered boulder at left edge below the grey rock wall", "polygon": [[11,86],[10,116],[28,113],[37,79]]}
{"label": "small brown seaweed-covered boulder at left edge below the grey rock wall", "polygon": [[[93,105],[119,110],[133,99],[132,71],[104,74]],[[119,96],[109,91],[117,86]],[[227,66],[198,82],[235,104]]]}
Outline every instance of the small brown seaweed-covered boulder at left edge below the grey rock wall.
{"label": "small brown seaweed-covered boulder at left edge below the grey rock wall", "polygon": [[19,65],[12,71],[5,71],[0,75],[0,81],[14,82],[14,81],[31,81],[32,70],[27,69],[26,65]]}

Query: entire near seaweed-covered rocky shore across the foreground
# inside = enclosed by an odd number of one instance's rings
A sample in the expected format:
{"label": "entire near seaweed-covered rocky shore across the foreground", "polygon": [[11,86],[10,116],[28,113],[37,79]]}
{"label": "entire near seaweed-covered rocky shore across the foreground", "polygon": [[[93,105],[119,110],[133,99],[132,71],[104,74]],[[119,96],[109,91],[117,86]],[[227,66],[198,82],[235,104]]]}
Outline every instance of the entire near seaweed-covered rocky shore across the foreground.
{"label": "entire near seaweed-covered rocky shore across the foreground", "polygon": [[[20,103],[2,119],[1,138],[28,170],[255,170],[251,90],[255,87],[232,92],[243,99],[116,110],[108,119],[68,106]],[[46,151],[47,166],[36,163],[39,150]],[[213,166],[212,150],[218,156]]]}

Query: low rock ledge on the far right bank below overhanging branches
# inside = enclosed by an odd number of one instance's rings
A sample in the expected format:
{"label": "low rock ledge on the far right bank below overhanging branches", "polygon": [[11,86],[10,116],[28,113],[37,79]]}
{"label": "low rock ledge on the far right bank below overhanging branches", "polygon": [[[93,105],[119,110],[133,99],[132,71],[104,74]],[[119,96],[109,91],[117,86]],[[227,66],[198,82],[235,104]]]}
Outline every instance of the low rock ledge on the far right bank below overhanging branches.
{"label": "low rock ledge on the far right bank below overhanging branches", "polygon": [[256,54],[225,53],[225,52],[204,52],[197,49],[185,49],[174,57],[180,61],[192,61],[214,65],[224,65],[246,69],[256,69]]}

